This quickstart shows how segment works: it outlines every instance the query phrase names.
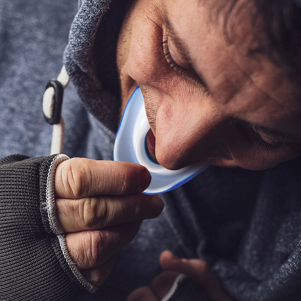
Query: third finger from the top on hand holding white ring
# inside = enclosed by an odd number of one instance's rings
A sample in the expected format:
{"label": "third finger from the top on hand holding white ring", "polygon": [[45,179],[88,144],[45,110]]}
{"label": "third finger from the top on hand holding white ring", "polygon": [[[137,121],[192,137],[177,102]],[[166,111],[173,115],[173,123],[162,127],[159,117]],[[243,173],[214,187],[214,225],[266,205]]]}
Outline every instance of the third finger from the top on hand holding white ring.
{"label": "third finger from the top on hand holding white ring", "polygon": [[141,222],[131,222],[66,235],[67,249],[80,270],[102,265],[128,244],[137,234]]}

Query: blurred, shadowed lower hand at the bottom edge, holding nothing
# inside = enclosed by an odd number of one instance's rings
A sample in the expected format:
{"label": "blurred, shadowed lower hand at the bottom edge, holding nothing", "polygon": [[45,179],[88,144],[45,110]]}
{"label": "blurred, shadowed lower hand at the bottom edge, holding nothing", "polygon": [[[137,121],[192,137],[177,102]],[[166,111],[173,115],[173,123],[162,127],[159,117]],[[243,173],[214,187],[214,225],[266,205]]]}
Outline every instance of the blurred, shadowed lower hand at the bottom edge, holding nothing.
{"label": "blurred, shadowed lower hand at the bottom edge, holding nothing", "polygon": [[134,290],[128,296],[127,301],[160,301],[181,273],[199,284],[210,300],[233,301],[205,261],[180,259],[171,252],[164,251],[160,256],[160,264],[165,271],[154,279],[150,287],[139,287]]}

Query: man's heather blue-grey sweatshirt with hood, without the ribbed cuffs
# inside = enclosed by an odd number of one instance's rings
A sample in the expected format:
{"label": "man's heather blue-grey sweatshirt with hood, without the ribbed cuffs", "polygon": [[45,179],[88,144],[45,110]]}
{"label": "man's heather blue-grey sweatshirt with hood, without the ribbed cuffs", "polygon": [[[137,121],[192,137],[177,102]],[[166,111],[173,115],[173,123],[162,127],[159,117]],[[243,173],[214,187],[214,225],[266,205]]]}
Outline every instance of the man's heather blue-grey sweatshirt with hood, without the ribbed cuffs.
{"label": "man's heather blue-grey sweatshirt with hood, without the ribbed cuffs", "polygon": [[[64,62],[81,101],[71,86],[63,108],[70,157],[112,158],[119,109],[114,47],[125,2],[111,5],[80,1],[71,27]],[[74,11],[74,1],[5,0],[0,7],[2,156],[48,152],[50,127],[38,106],[45,82],[60,70]],[[206,259],[235,300],[300,300],[300,167],[300,158],[260,172],[209,167],[164,194],[163,213],[143,222],[99,291],[82,300],[124,300],[149,285],[165,249]]]}

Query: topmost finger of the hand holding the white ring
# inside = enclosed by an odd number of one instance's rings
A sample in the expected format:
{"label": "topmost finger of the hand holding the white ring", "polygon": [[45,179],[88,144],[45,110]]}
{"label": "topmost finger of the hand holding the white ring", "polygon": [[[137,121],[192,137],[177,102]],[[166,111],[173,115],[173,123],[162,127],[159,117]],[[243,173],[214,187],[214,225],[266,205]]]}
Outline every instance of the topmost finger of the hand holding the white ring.
{"label": "topmost finger of the hand holding the white ring", "polygon": [[147,169],[135,163],[73,158],[57,166],[54,191],[56,198],[66,199],[126,195],[142,192],[150,182]]}

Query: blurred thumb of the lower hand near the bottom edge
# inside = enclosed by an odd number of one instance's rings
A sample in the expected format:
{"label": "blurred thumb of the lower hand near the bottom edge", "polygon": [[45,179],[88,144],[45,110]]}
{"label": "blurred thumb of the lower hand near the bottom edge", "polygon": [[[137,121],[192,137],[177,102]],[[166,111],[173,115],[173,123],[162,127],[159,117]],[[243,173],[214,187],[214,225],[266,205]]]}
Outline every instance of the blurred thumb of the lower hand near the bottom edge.
{"label": "blurred thumb of the lower hand near the bottom edge", "polygon": [[185,274],[200,285],[212,301],[233,301],[222,288],[207,262],[201,259],[178,258],[170,251],[160,255],[163,270],[173,270]]}

